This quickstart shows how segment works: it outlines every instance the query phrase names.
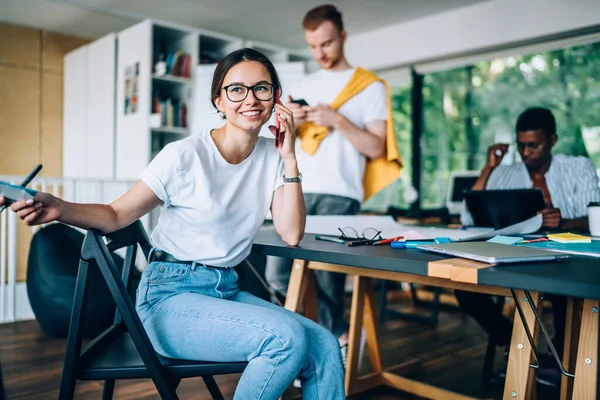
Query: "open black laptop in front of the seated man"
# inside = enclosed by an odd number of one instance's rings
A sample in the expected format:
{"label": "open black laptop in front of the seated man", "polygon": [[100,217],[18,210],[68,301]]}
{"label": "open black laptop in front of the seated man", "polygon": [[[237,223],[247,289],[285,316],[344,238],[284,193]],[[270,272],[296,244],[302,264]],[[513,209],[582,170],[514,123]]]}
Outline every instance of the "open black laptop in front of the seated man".
{"label": "open black laptop in front of the seated man", "polygon": [[546,208],[540,189],[468,190],[464,198],[474,225],[494,229],[525,221]]}

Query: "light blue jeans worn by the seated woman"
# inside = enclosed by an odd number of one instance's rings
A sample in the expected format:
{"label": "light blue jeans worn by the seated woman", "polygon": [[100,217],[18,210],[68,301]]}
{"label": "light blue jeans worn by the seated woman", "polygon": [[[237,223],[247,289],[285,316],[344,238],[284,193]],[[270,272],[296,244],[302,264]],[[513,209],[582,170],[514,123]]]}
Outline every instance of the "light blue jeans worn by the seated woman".
{"label": "light blue jeans worn by the seated woman", "polygon": [[276,400],[294,378],[304,399],[344,399],[337,339],[319,324],[241,292],[233,268],[151,262],[136,309],[154,349],[184,360],[248,361],[234,399]]}

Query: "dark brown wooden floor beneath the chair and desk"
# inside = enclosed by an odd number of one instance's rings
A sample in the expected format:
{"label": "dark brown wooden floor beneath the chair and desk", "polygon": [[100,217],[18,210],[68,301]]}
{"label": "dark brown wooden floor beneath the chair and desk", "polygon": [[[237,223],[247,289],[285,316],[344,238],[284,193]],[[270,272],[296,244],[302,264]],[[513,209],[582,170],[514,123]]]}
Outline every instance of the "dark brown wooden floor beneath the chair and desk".
{"label": "dark brown wooden floor beneath the chair and desk", "polygon": [[[411,307],[406,300],[395,302],[393,308]],[[419,309],[426,312],[426,309]],[[413,378],[442,388],[477,398],[499,399],[502,388],[482,387],[480,370],[487,336],[456,309],[440,312],[436,328],[423,324],[388,319],[380,328],[381,351],[384,366],[399,364],[419,356],[421,370]],[[8,399],[56,399],[64,357],[64,339],[45,336],[35,321],[0,325],[0,361]],[[496,357],[496,368],[504,362],[501,351]],[[363,368],[368,361],[363,362]],[[231,399],[238,376],[217,377],[225,398]],[[100,399],[101,382],[80,382],[77,399]],[[182,399],[209,399],[200,379],[184,380],[178,394]],[[551,399],[549,396],[538,398]],[[158,399],[149,380],[120,381],[117,399]],[[391,400],[416,397],[391,389],[377,389],[352,399]]]}

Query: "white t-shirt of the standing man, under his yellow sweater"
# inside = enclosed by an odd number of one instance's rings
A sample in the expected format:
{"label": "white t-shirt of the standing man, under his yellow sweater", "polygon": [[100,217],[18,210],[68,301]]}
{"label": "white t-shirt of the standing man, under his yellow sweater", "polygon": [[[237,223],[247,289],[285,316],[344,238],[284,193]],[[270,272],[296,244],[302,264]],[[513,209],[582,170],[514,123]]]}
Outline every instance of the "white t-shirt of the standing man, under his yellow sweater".
{"label": "white t-shirt of the standing man, under his yellow sweater", "polygon": [[[320,70],[292,87],[290,95],[306,100],[310,106],[331,104],[354,72],[354,68],[340,72]],[[381,82],[367,86],[338,110],[360,129],[372,121],[386,121],[387,111],[387,93]],[[330,132],[312,156],[302,150],[297,140],[296,157],[304,193],[333,194],[362,202],[366,158],[341,132]]]}

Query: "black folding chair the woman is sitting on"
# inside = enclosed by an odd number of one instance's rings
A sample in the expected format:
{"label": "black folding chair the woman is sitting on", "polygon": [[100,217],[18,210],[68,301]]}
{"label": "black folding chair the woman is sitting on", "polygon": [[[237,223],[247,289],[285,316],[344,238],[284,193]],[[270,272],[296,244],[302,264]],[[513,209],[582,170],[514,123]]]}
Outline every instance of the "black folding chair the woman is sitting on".
{"label": "black folding chair the woman is sitting on", "polygon": [[[213,376],[241,373],[247,363],[175,360],[162,357],[154,351],[135,310],[134,301],[128,294],[138,245],[148,258],[150,244],[140,221],[106,236],[96,230],[86,233],[81,249],[59,399],[73,398],[78,379],[104,380],[102,398],[111,399],[115,380],[141,378],[151,378],[161,398],[177,399],[176,389],[181,379],[199,376],[204,379],[213,399],[223,399]],[[122,276],[119,276],[110,252],[121,248],[126,248],[127,252]],[[81,317],[85,313],[88,272],[89,268],[95,267],[100,268],[117,309],[114,324],[81,351]]]}

